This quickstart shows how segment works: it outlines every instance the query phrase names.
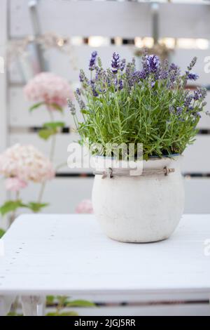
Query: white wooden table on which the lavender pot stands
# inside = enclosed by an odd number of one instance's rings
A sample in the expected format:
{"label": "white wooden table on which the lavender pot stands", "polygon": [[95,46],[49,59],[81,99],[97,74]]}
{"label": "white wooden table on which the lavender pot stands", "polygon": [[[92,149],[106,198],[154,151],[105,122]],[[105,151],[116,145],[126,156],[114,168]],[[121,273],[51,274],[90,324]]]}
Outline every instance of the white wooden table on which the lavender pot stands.
{"label": "white wooden table on which the lavender pot stands", "polygon": [[210,215],[183,216],[170,239],[153,244],[115,242],[91,215],[20,216],[3,237],[0,314],[21,296],[25,315],[41,315],[52,294],[141,305],[197,302],[210,315],[208,244]]}

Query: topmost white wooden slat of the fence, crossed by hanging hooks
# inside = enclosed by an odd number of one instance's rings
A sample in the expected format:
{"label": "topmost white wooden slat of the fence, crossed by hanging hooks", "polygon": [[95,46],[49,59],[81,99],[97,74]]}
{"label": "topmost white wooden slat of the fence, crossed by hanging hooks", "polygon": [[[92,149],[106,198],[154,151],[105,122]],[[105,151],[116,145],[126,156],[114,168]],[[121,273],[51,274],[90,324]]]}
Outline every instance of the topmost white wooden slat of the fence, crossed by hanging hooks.
{"label": "topmost white wooden slat of the fence, crossed by hanging hooks", "polygon": [[[12,37],[31,34],[27,3],[10,0]],[[149,37],[150,8],[150,4],[128,1],[38,1],[42,32],[85,37]],[[209,13],[208,4],[160,4],[160,37],[209,38]]]}

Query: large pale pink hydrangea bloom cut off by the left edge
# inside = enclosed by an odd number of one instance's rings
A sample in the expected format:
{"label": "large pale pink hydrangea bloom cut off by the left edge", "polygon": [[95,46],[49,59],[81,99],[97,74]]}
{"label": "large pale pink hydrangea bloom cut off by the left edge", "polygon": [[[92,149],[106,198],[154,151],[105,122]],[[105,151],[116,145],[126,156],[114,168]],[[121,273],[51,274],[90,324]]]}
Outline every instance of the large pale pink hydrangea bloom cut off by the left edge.
{"label": "large pale pink hydrangea bloom cut off by the left edge", "polygon": [[43,183],[55,176],[52,164],[33,145],[16,144],[0,154],[0,174],[6,178]]}

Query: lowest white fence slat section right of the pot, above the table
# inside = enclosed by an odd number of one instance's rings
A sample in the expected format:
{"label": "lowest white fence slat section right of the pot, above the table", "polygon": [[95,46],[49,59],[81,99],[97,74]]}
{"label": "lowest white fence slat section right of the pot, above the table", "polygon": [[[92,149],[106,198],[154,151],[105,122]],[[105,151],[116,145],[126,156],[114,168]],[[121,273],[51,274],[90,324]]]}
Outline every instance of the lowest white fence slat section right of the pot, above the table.
{"label": "lowest white fence slat section right of the pot, above the table", "polygon": [[209,213],[210,203],[210,179],[209,178],[186,178],[186,213]]}

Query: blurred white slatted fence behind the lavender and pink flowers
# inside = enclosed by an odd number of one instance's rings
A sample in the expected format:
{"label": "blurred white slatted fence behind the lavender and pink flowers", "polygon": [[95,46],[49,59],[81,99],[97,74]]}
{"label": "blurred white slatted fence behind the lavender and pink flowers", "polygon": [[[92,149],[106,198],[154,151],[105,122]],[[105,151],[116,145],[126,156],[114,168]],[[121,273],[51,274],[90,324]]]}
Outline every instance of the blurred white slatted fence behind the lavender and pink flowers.
{"label": "blurred white slatted fence behind the lavender and pink flowers", "polygon": [[[39,72],[53,72],[79,86],[80,68],[88,73],[90,54],[96,50],[105,67],[113,51],[122,58],[135,57],[140,66],[143,48],[169,58],[182,70],[193,56],[200,79],[190,86],[209,87],[210,110],[210,1],[129,0],[1,0],[0,11],[0,153],[20,143],[32,144],[50,156],[50,139],[38,137],[49,121],[45,107],[29,112],[33,102],[23,88]],[[78,136],[67,109],[55,112],[65,126],[57,134],[54,165],[64,164],[67,147]],[[210,117],[203,115],[194,145],[183,157],[186,213],[210,213]],[[57,167],[43,196],[45,213],[73,213],[83,199],[91,198],[91,171]],[[22,199],[33,201],[40,184],[30,183]],[[0,179],[0,204],[10,198]],[[6,220],[1,220],[1,227]]]}

